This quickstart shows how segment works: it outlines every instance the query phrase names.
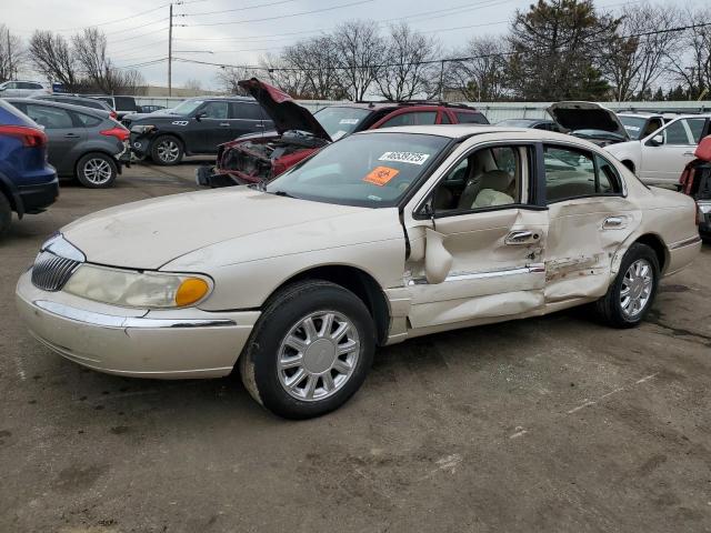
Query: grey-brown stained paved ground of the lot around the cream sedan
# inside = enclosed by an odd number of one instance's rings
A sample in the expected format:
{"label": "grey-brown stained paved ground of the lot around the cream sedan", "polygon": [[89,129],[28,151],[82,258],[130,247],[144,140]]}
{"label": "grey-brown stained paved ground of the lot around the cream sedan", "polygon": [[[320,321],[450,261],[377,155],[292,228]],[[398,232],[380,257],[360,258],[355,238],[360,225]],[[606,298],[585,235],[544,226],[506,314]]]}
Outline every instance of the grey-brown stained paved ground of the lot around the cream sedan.
{"label": "grey-brown stained paved ground of the lot around the cream sedan", "polygon": [[42,240],[193,170],[68,185],[0,242],[0,531],[711,531],[708,245],[637,330],[574,310],[411,341],[308,422],[237,378],[122,379],[40,346],[13,290]]}

